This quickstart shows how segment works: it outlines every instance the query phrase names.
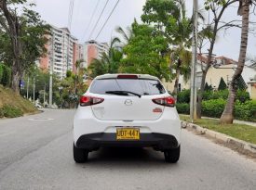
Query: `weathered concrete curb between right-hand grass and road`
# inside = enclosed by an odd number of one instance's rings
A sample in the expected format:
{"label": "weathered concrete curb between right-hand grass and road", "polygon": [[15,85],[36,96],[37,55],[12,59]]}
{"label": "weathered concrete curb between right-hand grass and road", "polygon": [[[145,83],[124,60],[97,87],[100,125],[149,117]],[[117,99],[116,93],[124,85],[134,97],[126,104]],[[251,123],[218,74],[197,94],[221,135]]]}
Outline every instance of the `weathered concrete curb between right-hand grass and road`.
{"label": "weathered concrete curb between right-hand grass and road", "polygon": [[228,136],[226,134],[214,132],[209,129],[200,127],[198,125],[195,125],[193,123],[189,123],[186,121],[182,121],[182,128],[189,128],[189,129],[195,130],[197,133],[207,134],[210,137],[220,140],[224,143],[227,143],[232,146],[239,147],[239,148],[243,148],[243,149],[248,150],[249,152],[254,153],[254,154],[256,153],[256,145],[236,139],[236,138]]}

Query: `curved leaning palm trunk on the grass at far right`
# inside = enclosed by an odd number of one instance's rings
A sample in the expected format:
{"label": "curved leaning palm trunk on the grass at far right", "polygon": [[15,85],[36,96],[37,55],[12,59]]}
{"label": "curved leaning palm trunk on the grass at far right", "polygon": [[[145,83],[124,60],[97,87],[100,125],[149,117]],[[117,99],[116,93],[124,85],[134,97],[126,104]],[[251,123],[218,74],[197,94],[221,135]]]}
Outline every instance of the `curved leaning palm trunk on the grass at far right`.
{"label": "curved leaning palm trunk on the grass at far right", "polygon": [[227,99],[227,104],[224,108],[221,117],[221,123],[232,124],[234,120],[234,105],[236,98],[236,80],[241,75],[246,59],[247,44],[248,44],[248,32],[249,32],[249,0],[242,1],[242,29],[241,29],[241,44],[240,53],[237,68],[235,74],[232,77],[232,81],[229,85],[229,95]]}

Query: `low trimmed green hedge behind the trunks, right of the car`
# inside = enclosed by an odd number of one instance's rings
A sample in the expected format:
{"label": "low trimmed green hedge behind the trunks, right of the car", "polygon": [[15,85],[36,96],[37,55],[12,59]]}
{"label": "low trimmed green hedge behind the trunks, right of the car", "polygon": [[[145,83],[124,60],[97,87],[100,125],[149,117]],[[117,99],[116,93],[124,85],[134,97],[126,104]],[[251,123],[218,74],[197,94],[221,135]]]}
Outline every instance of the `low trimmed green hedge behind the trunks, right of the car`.
{"label": "low trimmed green hedge behind the trunks, right of the car", "polygon": [[[202,116],[211,118],[221,118],[226,100],[212,99],[202,102]],[[179,113],[189,114],[189,104],[177,103],[176,108]],[[245,103],[236,101],[234,117],[236,120],[256,121],[256,101],[249,100]]]}

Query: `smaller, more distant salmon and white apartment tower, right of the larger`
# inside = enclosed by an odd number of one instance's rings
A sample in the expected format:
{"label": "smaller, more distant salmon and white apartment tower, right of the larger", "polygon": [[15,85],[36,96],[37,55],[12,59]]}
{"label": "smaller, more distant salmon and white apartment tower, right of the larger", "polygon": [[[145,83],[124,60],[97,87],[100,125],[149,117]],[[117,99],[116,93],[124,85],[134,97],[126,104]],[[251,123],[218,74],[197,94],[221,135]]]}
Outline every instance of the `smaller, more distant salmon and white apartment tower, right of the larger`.
{"label": "smaller, more distant salmon and white apartment tower, right of the larger", "polygon": [[109,50],[109,45],[107,43],[99,43],[95,40],[90,40],[85,43],[85,67],[91,64],[94,58],[101,58],[101,55]]}

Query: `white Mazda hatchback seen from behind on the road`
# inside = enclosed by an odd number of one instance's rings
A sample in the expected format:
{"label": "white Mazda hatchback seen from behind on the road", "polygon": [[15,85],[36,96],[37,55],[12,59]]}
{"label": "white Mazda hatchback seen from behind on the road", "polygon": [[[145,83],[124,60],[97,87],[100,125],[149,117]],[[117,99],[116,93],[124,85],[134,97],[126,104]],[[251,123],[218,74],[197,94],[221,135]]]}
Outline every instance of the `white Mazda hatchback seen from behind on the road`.
{"label": "white Mazda hatchback seen from behind on the road", "polygon": [[74,115],[74,161],[85,162],[104,146],[151,146],[167,162],[179,160],[181,120],[159,79],[105,74],[91,82]]}

